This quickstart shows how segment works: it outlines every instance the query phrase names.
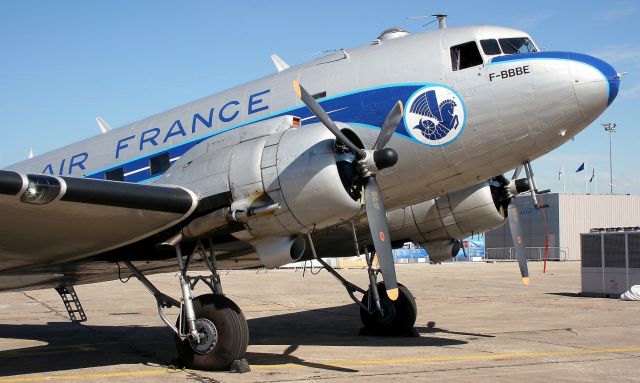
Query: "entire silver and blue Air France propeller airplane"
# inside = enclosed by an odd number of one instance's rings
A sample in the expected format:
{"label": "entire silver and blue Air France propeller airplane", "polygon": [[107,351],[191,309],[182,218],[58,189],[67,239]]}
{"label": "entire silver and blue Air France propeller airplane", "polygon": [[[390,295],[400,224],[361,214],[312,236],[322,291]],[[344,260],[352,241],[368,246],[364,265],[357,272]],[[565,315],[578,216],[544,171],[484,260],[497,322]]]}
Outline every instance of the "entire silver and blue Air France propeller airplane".
{"label": "entire silver and blue Air France propeller airplane", "polygon": [[[596,119],[619,76],[591,56],[540,52],[520,30],[443,24],[295,67],[274,56],[274,75],[0,171],[0,290],[56,288],[82,320],[73,285],[128,269],[186,365],[227,369],[249,333],[220,268],[318,259],[368,333],[403,334],[416,306],[392,247],[411,240],[441,262],[508,221],[527,282],[513,197],[542,207],[530,161]],[[368,290],[322,259],[356,253]],[[179,300],[145,277],[172,270]],[[197,282],[211,292],[194,297]]]}

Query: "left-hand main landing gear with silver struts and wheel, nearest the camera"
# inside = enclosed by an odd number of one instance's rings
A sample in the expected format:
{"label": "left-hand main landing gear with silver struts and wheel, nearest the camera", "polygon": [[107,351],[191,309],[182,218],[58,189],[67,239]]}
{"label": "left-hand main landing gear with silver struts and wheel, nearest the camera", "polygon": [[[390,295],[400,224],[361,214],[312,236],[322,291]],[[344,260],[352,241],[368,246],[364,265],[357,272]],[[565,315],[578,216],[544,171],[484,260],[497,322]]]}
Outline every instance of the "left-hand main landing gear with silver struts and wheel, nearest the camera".
{"label": "left-hand main landing gear with silver struts and wheel, nearest the camera", "polygon": [[[222,294],[213,244],[210,241],[207,250],[198,241],[193,253],[184,257],[180,240],[181,237],[176,236],[161,244],[171,246],[176,253],[182,290],[180,301],[160,292],[131,262],[126,261],[125,264],[156,298],[160,318],[175,333],[178,355],[187,367],[249,371],[249,365],[243,359],[249,344],[249,327],[240,308]],[[187,275],[189,263],[195,255],[207,264],[212,273],[210,276]],[[194,298],[192,293],[198,282],[205,283],[212,293]],[[171,307],[180,309],[175,325],[165,314],[165,309]]]}

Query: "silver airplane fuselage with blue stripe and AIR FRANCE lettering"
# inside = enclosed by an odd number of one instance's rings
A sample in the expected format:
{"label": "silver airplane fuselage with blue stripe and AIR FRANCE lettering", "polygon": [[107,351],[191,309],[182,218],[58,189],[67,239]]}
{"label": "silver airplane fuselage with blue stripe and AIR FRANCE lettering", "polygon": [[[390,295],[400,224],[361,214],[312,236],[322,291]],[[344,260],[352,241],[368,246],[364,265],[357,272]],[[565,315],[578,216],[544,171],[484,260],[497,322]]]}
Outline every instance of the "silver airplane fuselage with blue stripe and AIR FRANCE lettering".
{"label": "silver airplane fuselage with blue stripe and AIR FRANCE lettering", "polygon": [[[542,156],[584,129],[615,98],[613,68],[584,55],[542,52],[496,59],[483,54],[481,65],[452,69],[452,46],[501,37],[528,34],[488,26],[451,28],[338,51],[7,169],[102,179],[122,167],[125,181],[165,183],[162,174],[152,174],[151,157],[169,153],[174,163],[199,143],[234,142],[253,123],[280,115],[301,117],[303,127],[317,122],[296,97],[293,80],[312,94],[322,93],[319,101],[332,118],[371,147],[398,99],[406,104],[425,87],[448,88],[464,114],[454,140],[425,144],[405,118],[388,144],[399,162],[378,181],[388,210],[405,207]],[[207,176],[206,169],[198,171],[200,178]],[[228,189],[215,179],[184,186],[200,197]]]}

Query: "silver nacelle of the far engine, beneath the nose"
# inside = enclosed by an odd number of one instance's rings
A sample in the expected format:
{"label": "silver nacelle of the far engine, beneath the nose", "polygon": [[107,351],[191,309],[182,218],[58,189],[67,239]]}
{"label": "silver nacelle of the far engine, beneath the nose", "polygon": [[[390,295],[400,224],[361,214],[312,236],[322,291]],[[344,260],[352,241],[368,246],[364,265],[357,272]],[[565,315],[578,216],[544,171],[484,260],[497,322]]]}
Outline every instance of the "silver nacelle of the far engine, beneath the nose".
{"label": "silver nacelle of the far engine, beneath the nose", "polygon": [[[394,239],[424,244],[466,238],[502,225],[488,182],[448,193],[388,214]],[[431,255],[431,253],[429,253]]]}

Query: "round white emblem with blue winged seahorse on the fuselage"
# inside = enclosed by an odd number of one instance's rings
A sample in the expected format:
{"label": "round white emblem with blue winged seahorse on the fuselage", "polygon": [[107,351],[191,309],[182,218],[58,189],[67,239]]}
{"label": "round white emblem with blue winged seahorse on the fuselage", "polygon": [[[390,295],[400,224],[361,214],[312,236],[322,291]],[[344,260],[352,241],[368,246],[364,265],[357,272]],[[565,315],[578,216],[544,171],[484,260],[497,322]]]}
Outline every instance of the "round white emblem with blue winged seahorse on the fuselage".
{"label": "round white emblem with blue winged seahorse on the fuselage", "polygon": [[405,110],[407,130],[425,145],[446,145],[464,128],[462,99],[444,86],[432,85],[418,90],[407,101]]}

